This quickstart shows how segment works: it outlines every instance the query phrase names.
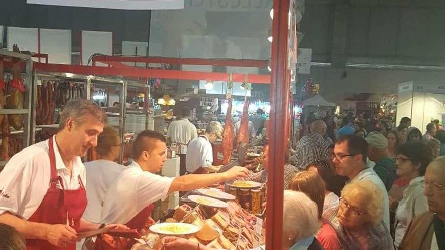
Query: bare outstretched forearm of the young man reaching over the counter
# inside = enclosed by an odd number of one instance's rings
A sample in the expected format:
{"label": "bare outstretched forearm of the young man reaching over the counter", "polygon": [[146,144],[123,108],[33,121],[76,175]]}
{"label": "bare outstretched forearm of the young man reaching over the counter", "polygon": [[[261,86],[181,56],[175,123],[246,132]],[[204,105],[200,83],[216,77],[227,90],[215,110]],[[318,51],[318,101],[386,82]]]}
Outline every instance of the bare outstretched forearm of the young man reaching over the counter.
{"label": "bare outstretched forearm of the young man reaching over the counter", "polygon": [[183,175],[176,177],[173,180],[168,193],[175,191],[189,191],[226,180],[228,180],[228,178],[225,173]]}

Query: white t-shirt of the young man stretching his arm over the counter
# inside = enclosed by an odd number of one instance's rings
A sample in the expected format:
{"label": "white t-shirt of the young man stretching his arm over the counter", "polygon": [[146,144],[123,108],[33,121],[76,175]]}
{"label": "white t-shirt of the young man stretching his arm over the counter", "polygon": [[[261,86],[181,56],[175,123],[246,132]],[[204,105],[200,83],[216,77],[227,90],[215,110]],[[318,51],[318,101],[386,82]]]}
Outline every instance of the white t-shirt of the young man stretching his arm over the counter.
{"label": "white t-shirt of the young man stretching his arm over the counter", "polygon": [[127,223],[148,205],[165,199],[173,180],[143,171],[133,161],[108,188],[101,223]]}

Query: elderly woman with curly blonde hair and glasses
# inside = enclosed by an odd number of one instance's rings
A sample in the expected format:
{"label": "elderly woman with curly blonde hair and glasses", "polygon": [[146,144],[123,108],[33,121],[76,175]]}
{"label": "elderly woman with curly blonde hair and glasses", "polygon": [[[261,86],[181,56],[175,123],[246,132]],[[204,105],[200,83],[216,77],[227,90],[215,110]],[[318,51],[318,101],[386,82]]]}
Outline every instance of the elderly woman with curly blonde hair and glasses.
{"label": "elderly woman with curly blonde hair and glasses", "polygon": [[341,192],[340,205],[323,214],[345,250],[392,250],[383,216],[383,190],[369,180],[352,181]]}

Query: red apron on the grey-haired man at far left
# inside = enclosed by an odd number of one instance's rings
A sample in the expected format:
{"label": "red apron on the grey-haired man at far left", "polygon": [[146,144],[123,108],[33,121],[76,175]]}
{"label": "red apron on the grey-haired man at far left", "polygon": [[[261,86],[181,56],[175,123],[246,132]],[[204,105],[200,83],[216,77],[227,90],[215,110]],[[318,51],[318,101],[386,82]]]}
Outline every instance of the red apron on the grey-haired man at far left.
{"label": "red apron on the grey-haired man at far left", "polygon": [[[83,212],[85,211],[87,205],[85,187],[83,186],[80,176],[78,176],[80,183],[79,189],[64,189],[62,178],[57,175],[56,157],[54,155],[53,144],[53,137],[51,137],[48,141],[51,168],[50,188],[45,194],[40,206],[28,219],[28,221],[46,224],[67,224],[67,221],[69,221],[69,225],[78,231],[80,227],[80,218],[82,218]],[[62,189],[57,187],[57,183],[60,184]],[[27,239],[26,249],[75,250],[76,244],[69,244],[65,247],[57,247],[50,244],[46,240]]]}

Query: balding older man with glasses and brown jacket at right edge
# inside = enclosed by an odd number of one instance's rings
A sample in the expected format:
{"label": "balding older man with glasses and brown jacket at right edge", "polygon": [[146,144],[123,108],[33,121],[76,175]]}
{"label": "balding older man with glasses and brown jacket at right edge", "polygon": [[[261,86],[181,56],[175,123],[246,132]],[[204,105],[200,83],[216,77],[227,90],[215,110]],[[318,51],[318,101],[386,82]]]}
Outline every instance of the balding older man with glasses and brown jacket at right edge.
{"label": "balding older man with glasses and brown jacket at right edge", "polygon": [[445,158],[432,161],[426,168],[424,194],[428,210],[414,218],[400,248],[403,250],[445,249]]}

